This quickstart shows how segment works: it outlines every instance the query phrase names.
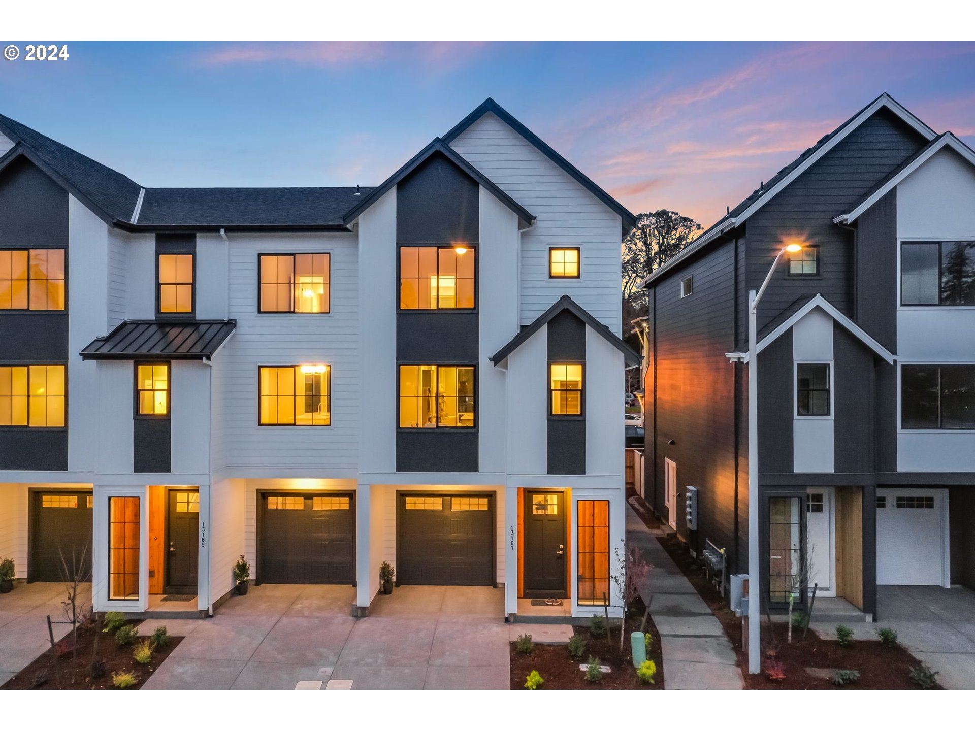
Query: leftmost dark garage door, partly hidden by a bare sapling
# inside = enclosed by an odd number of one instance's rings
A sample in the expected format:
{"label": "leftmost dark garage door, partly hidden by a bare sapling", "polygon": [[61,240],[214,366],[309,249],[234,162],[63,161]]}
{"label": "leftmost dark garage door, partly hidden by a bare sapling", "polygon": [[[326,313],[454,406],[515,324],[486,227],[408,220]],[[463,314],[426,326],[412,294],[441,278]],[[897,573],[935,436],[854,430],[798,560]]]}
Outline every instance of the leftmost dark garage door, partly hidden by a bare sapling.
{"label": "leftmost dark garage door, partly hidden by a bare sapling", "polygon": [[63,581],[61,556],[67,565],[84,555],[86,578],[92,576],[91,492],[33,493],[33,531],[30,542],[28,579]]}

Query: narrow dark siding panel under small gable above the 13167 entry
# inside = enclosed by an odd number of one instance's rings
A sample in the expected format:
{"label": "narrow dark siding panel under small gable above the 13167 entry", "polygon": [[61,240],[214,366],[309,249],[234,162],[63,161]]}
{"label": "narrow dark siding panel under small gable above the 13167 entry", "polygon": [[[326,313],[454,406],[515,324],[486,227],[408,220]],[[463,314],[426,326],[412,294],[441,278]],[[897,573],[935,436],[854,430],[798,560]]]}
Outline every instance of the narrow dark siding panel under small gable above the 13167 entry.
{"label": "narrow dark siding panel under small gable above the 13167 entry", "polygon": [[[563,310],[548,322],[548,361],[553,363],[581,363],[582,368],[582,415],[553,416],[552,404],[548,404],[548,455],[549,475],[586,474],[586,324],[568,310]],[[546,366],[546,383],[551,399],[551,375]]]}

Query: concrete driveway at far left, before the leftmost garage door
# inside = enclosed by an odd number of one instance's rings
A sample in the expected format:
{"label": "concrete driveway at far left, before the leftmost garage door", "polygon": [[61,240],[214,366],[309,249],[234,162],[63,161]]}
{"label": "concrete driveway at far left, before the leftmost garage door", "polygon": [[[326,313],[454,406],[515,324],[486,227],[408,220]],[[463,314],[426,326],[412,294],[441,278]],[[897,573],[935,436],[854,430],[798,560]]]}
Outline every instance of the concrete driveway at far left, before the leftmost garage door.
{"label": "concrete driveway at far left, before the leftmost garage door", "polygon": [[[18,582],[10,594],[0,594],[0,685],[3,685],[45,650],[51,647],[47,616],[64,619],[61,602],[63,584]],[[85,585],[80,606],[91,607],[92,587]],[[70,625],[55,625],[55,639],[70,631]]]}

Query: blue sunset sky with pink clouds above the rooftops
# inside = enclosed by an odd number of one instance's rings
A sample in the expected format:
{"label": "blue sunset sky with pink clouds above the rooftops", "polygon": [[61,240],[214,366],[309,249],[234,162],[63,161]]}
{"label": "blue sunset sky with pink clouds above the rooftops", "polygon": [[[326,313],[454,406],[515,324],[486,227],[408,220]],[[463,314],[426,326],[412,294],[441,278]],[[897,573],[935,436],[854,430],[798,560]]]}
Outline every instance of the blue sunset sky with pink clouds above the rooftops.
{"label": "blue sunset sky with pink clouds above the rooftops", "polygon": [[975,146],[975,43],[68,50],[0,60],[0,113],[147,186],[374,185],[487,96],[631,211],[705,225],[881,92]]}

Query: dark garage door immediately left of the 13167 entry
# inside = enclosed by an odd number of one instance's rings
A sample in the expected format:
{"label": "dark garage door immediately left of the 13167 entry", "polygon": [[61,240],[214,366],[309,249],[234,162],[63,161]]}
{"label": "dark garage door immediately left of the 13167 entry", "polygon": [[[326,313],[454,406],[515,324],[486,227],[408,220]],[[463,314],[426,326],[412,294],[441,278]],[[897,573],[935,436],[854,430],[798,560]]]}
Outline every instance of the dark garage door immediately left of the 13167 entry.
{"label": "dark garage door immediately left of the 13167 entry", "polygon": [[494,583],[494,496],[416,493],[398,497],[400,584]]}

